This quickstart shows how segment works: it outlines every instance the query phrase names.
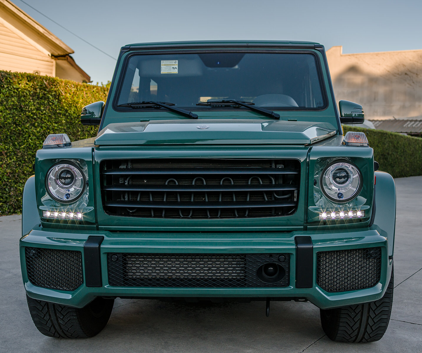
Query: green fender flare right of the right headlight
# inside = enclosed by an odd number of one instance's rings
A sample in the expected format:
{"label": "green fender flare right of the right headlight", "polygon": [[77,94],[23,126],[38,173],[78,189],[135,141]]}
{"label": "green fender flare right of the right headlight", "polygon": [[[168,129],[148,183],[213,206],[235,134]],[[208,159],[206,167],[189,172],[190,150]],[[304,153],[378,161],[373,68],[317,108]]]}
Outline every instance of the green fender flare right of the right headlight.
{"label": "green fender flare right of the right headlight", "polygon": [[386,172],[375,172],[376,212],[371,229],[375,229],[388,240],[388,255],[394,253],[396,216],[396,191],[393,177]]}

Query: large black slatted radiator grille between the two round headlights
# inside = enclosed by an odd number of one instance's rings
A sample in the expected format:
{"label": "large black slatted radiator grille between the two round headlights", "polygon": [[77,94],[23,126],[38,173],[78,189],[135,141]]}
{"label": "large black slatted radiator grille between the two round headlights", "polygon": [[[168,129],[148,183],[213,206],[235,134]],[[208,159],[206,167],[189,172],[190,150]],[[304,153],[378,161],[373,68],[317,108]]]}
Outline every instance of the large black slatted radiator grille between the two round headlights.
{"label": "large black slatted radiator grille between the two round headlights", "polygon": [[287,216],[298,207],[294,159],[132,159],[101,162],[106,213],[143,218]]}

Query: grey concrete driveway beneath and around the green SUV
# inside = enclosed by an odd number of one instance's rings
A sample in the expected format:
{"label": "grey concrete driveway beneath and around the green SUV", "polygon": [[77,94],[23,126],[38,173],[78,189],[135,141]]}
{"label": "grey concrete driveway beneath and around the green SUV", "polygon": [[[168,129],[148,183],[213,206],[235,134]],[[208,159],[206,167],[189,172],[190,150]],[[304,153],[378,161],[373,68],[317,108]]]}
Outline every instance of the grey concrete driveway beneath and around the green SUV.
{"label": "grey concrete driveway beneath and around the green SUV", "polygon": [[45,337],[28,312],[19,265],[21,216],[0,217],[1,352],[421,352],[422,177],[396,179],[395,291],[387,333],[336,343],[311,303],[174,304],[116,299],[106,328],[87,340]]}

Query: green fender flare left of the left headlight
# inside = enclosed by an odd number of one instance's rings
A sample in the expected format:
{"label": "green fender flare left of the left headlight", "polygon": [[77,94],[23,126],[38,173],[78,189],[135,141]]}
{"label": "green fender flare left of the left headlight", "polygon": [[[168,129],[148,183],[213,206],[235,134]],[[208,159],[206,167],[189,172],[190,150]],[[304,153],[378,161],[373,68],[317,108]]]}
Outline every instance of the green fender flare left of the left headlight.
{"label": "green fender flare left of the left headlight", "polygon": [[35,196],[35,175],[28,178],[22,197],[22,237],[36,226],[41,225]]}

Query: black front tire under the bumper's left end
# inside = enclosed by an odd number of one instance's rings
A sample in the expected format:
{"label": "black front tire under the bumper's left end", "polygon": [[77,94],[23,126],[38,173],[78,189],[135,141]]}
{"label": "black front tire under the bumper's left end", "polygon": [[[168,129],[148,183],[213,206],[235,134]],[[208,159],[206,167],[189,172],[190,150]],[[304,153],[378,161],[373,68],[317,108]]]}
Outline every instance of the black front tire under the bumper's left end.
{"label": "black front tire under the bumper's left end", "polygon": [[98,334],[108,322],[114,299],[97,297],[78,309],[27,296],[29,311],[38,331],[49,337],[87,338]]}

